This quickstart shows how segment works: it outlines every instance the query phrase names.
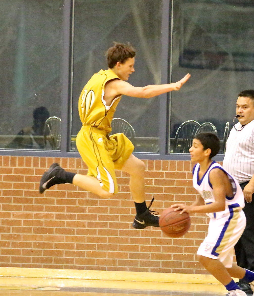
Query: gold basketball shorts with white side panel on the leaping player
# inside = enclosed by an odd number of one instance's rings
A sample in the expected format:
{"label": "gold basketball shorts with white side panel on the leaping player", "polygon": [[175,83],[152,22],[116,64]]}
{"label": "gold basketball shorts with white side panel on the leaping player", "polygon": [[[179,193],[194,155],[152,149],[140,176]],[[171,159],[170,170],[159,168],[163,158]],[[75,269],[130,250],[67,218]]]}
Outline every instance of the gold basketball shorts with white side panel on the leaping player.
{"label": "gold basketball shorts with white side panel on the leaping player", "polygon": [[97,178],[109,193],[118,193],[115,170],[120,170],[133,152],[131,141],[123,133],[108,136],[98,128],[82,126],[76,146],[88,166],[87,175]]}

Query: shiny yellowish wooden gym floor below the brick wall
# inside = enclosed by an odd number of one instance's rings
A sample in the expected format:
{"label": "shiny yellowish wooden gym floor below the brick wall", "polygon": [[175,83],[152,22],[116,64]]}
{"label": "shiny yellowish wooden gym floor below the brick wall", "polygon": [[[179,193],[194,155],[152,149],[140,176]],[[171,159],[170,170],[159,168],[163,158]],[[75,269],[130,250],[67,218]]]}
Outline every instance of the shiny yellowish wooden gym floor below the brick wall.
{"label": "shiny yellowish wooden gym floor below the brick wall", "polygon": [[[157,277],[160,276],[158,273],[135,273],[134,278],[137,274],[139,275],[139,278],[136,277],[137,280],[135,280],[130,278],[130,272],[116,271],[109,274],[110,276],[108,274],[104,276],[105,273],[108,273],[104,271],[102,272],[103,276],[100,276],[96,271],[94,276],[93,271],[80,271],[88,272],[89,276],[86,275],[84,279],[64,279],[43,278],[45,276],[44,269],[41,274],[37,274],[38,277],[32,277],[31,274],[28,277],[22,277],[22,269],[24,269],[23,275],[26,276],[26,270],[29,268],[19,268],[19,276],[0,276],[0,296],[220,296],[226,294],[223,285],[205,275],[199,275],[199,279],[198,275],[175,274],[174,279],[174,274],[172,274],[169,280],[173,282],[165,282],[163,275],[167,276],[167,274],[162,274],[161,279],[161,277]],[[30,268],[32,273],[33,269],[36,268]],[[36,269],[34,276],[38,272]],[[72,273],[71,270],[68,272],[69,275]],[[1,268],[0,275],[2,275]],[[118,280],[112,280],[111,277]],[[179,281],[179,278],[187,283],[174,282]],[[188,283],[188,281],[201,283]],[[208,284],[208,282],[212,283]]]}

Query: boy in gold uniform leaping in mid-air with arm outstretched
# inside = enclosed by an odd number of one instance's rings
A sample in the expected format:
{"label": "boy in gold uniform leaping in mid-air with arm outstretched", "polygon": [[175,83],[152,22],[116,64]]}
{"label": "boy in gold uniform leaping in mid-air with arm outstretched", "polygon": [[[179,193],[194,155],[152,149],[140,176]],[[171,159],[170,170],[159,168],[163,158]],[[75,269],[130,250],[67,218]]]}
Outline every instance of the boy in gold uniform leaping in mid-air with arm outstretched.
{"label": "boy in gold uniform leaping in mid-air with arm outstretched", "polygon": [[145,164],[132,154],[131,141],[123,134],[109,136],[111,121],[121,96],[151,98],[169,91],[179,90],[190,78],[185,75],[176,83],[134,87],[126,80],[134,70],[135,50],[130,44],[114,43],[106,53],[108,70],[95,73],[83,88],[78,108],[82,128],[77,134],[77,149],[88,166],[88,174],[66,172],[53,163],[40,181],[39,192],[55,184],[71,183],[110,198],[118,192],[115,169],[130,174],[130,191],[137,215],[136,229],[159,227],[158,216],[152,214],[145,202]]}

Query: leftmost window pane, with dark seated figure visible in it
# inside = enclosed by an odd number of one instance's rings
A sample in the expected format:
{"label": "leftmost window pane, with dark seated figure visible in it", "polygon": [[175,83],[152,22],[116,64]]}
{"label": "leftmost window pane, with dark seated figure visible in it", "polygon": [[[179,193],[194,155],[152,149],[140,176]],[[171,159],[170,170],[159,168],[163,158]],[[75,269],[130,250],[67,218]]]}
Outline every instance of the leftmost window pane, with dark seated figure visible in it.
{"label": "leftmost window pane, with dark seated figure visible in it", "polygon": [[63,0],[1,1],[0,148],[54,149],[43,131],[61,118],[62,27]]}

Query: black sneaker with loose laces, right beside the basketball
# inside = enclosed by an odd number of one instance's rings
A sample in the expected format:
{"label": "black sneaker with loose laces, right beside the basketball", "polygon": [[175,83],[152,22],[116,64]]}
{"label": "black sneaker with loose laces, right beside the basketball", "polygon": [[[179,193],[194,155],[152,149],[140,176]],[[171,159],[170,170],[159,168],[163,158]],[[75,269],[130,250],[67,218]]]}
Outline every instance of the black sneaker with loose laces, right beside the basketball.
{"label": "black sneaker with loose laces, right beside the basketball", "polygon": [[[151,200],[150,205],[146,209],[146,211],[140,215],[136,215],[132,226],[136,229],[144,229],[147,226],[159,227],[159,217],[155,216],[158,215],[158,212],[149,210],[150,206],[152,205],[154,200]],[[153,214],[155,213],[155,215]]]}

